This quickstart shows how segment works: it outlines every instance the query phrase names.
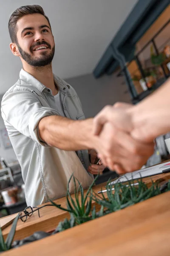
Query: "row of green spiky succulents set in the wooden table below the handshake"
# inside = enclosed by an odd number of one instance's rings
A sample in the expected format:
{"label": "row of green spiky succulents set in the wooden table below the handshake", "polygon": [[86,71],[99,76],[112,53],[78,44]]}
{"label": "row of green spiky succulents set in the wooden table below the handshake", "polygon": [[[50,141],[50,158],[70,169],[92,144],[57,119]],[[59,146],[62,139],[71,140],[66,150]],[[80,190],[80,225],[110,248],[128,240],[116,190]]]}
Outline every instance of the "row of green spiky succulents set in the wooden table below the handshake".
{"label": "row of green spiky succulents set in the wooden table below the handshake", "polygon": [[[97,177],[98,176],[96,176],[96,178]],[[75,199],[73,199],[73,197],[69,192],[69,184],[72,178],[74,180]],[[109,180],[106,186],[107,196],[105,196],[103,193],[102,193],[102,196],[99,196],[98,194],[92,191],[92,186],[94,185],[96,178],[92,182],[91,186],[89,186],[89,189],[86,192],[86,194],[84,194],[83,187],[81,183],[79,183],[79,180],[77,180],[77,178],[75,178],[74,175],[71,175],[68,181],[68,186],[67,186],[67,195],[66,195],[67,208],[63,208],[50,200],[51,203],[57,208],[69,212],[70,215],[74,217],[75,225],[76,225],[76,224],[82,224],[86,221],[90,221],[92,219],[106,215],[110,212],[116,212],[120,209],[124,209],[125,207],[128,207],[130,205],[133,205],[141,201],[144,201],[148,198],[151,198],[155,195],[159,195],[161,194],[161,192],[166,192],[170,190],[170,181],[167,184],[167,187],[164,189],[164,191],[161,191],[157,183],[152,182],[152,185],[150,186],[150,188],[148,188],[147,185],[142,181],[142,179],[140,179],[140,180],[137,180],[138,186],[134,186],[133,180],[128,181],[128,186],[125,183],[114,184],[114,193],[113,193],[113,190],[112,190],[113,185],[109,184],[110,183],[110,180]],[[79,184],[78,188],[77,188],[76,181]],[[79,199],[79,192],[80,192],[81,200]],[[96,212],[95,206],[92,209],[92,200],[94,200],[96,204],[99,204],[101,206],[101,209],[99,212]],[[70,227],[70,222],[68,219],[65,219],[64,221],[59,223],[57,230],[62,231],[69,227]]]}

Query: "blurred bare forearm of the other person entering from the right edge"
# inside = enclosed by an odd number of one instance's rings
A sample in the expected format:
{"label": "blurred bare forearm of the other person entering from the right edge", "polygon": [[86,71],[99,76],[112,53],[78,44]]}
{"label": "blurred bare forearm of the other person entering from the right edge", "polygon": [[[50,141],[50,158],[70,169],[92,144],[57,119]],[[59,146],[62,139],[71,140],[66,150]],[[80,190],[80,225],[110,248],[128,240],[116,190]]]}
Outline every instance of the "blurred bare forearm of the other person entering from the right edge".
{"label": "blurred bare forearm of the other person entering from the right edge", "polygon": [[133,137],[153,141],[170,131],[170,79],[152,95],[127,111],[133,116]]}

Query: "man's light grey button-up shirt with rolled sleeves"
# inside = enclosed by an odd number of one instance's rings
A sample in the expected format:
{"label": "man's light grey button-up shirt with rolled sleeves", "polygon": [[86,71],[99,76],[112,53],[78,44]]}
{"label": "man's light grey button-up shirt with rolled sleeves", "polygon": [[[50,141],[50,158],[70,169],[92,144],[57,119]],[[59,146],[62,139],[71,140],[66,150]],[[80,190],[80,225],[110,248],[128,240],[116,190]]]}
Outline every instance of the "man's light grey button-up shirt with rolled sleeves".
{"label": "man's light grey button-up shirt with rolled sleeves", "polygon": [[[82,106],[73,87],[54,76],[59,88],[65,116],[85,119]],[[40,140],[38,123],[45,116],[59,115],[50,89],[25,70],[20,79],[3,96],[1,112],[9,138],[22,169],[27,205],[36,206],[66,194],[72,172],[84,187],[90,185],[93,175],[87,150],[64,151],[50,147]],[[74,184],[70,183],[70,191]]]}

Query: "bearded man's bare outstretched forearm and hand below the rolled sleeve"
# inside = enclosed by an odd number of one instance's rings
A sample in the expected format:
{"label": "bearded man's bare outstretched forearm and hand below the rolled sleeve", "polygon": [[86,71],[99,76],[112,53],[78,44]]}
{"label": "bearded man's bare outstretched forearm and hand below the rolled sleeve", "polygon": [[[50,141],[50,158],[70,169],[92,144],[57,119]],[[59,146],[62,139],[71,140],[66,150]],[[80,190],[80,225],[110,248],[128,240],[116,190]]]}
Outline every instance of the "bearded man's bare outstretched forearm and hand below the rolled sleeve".
{"label": "bearded man's bare outstretched forearm and hand below the rolled sleeve", "polygon": [[147,159],[153,149],[153,143],[138,142],[114,125],[105,125],[99,136],[93,134],[92,128],[93,119],[74,121],[62,116],[47,116],[39,122],[40,137],[48,145],[63,150],[94,148],[105,156],[102,162],[111,169],[112,161],[119,163],[120,160],[124,160],[128,170],[131,170],[129,163],[133,160],[133,169],[136,169],[136,165],[143,157]]}

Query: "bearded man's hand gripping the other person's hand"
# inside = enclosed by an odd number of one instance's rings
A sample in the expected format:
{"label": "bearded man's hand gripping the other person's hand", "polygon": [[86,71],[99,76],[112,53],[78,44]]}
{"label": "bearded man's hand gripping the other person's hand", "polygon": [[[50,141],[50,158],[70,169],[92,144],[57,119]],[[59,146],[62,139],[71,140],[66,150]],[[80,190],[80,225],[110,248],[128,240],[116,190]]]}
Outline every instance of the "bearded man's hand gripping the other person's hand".
{"label": "bearded man's hand gripping the other person's hand", "polygon": [[136,141],[109,122],[104,125],[99,139],[105,143],[98,149],[98,157],[105,166],[119,174],[141,168],[153,154],[154,143]]}

